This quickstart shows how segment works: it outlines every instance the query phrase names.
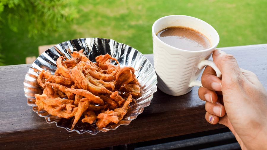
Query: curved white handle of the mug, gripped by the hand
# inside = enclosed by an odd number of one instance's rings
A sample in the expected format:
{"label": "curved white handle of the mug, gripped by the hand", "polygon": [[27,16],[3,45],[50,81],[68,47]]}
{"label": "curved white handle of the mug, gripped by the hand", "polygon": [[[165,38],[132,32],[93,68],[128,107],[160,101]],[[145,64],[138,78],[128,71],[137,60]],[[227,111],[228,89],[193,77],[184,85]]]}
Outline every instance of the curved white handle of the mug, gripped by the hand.
{"label": "curved white handle of the mug, gripped by the hand", "polygon": [[[199,69],[203,69],[204,66],[211,66],[211,67],[215,70],[215,72],[216,72],[216,76],[217,76],[217,77],[220,78],[220,77],[222,76],[221,71],[220,71],[219,68],[215,65],[214,61],[212,61],[212,60],[202,60],[202,61],[198,64],[198,68],[199,68]],[[199,80],[192,81],[192,82],[189,84],[189,87],[193,87],[193,86],[200,86],[200,87],[203,87],[201,81],[199,81]]]}

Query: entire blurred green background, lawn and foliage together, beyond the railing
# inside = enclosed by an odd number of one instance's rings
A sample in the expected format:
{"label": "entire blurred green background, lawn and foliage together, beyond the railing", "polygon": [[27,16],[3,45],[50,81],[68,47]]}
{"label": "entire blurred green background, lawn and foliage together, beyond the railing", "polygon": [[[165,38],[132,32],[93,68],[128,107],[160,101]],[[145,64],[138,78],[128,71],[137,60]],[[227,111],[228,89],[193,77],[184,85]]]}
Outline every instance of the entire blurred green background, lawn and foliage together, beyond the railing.
{"label": "entire blurred green background, lawn and foliage together, beyond the railing", "polygon": [[0,0],[0,65],[38,57],[38,46],[101,37],[152,53],[152,24],[189,15],[212,25],[218,47],[267,43],[266,0]]}

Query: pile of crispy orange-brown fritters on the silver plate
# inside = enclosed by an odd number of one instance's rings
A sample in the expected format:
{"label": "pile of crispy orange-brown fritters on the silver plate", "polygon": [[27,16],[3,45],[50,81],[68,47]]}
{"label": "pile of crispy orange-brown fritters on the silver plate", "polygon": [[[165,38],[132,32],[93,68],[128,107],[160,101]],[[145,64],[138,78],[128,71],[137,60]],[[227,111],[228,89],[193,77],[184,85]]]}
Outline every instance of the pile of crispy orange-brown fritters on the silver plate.
{"label": "pile of crispy orange-brown fritters on the silver plate", "polygon": [[44,91],[42,95],[35,94],[38,111],[67,119],[74,117],[71,130],[81,117],[82,122],[90,124],[97,120],[98,127],[117,124],[140,95],[134,68],[120,67],[109,54],[97,56],[96,63],[83,50],[74,51],[71,56],[57,59],[54,75],[45,70],[39,73],[37,81]]}

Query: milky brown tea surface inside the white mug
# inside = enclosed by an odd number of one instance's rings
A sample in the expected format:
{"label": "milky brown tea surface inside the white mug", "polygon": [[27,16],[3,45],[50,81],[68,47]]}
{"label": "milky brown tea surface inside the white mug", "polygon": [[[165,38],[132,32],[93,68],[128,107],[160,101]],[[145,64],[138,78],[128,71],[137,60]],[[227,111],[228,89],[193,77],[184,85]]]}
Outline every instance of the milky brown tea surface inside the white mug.
{"label": "milky brown tea surface inside the white mug", "polygon": [[164,43],[182,50],[197,51],[211,47],[211,43],[205,35],[187,27],[168,27],[156,35]]}

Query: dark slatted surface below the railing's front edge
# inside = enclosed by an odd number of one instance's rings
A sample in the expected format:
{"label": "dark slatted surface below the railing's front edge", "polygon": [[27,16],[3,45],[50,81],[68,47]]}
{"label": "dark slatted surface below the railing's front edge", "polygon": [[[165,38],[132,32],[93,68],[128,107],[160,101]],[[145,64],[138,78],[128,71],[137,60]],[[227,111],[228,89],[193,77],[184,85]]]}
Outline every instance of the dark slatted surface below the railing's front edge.
{"label": "dark slatted surface below the railing's front edge", "polygon": [[228,128],[97,150],[238,150],[241,149]]}

